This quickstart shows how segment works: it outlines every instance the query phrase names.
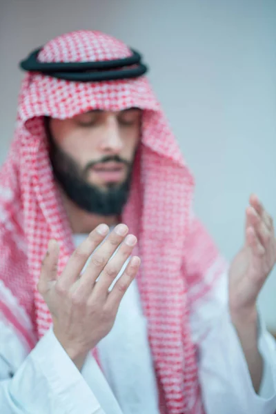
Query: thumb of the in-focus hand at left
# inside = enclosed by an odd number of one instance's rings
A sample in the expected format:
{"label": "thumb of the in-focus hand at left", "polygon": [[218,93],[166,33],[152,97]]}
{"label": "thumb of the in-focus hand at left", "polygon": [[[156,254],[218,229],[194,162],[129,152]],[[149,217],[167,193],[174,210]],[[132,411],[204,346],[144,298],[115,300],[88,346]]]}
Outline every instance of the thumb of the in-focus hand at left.
{"label": "thumb of the in-focus hand at left", "polygon": [[50,287],[50,282],[57,280],[57,263],[59,260],[59,244],[56,240],[51,239],[48,244],[47,253],[41,265],[41,273],[37,288],[39,293],[43,294]]}

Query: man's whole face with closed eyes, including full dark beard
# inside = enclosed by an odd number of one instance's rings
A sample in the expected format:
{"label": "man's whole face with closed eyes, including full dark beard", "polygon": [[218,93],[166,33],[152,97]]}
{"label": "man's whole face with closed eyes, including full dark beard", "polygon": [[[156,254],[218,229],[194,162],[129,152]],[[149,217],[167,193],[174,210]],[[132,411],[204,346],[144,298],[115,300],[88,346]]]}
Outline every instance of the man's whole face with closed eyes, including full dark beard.
{"label": "man's whole face with closed eyes, including full dark beard", "polygon": [[121,214],[140,129],[137,108],[46,119],[52,169],[68,198],[89,213]]}

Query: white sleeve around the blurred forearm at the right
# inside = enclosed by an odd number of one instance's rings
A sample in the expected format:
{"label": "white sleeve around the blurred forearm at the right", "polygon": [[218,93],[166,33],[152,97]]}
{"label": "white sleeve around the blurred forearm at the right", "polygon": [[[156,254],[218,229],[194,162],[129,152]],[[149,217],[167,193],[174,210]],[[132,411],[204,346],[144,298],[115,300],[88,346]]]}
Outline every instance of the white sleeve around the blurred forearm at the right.
{"label": "white sleeve around the blurred forearm at the right", "polygon": [[190,324],[198,348],[201,391],[206,414],[276,413],[276,344],[259,322],[262,386],[255,393],[242,346],[228,311],[228,276],[192,305]]}

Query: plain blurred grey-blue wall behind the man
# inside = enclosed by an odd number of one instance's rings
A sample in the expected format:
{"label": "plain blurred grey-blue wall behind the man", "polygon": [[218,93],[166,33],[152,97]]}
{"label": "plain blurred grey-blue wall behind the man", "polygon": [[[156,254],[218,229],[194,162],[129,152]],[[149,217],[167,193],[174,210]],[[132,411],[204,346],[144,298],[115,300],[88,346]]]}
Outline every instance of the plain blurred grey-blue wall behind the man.
{"label": "plain blurred grey-blue wall behind the man", "polygon": [[[14,129],[19,60],[81,28],[143,52],[197,181],[197,215],[231,259],[251,192],[276,215],[276,1],[1,0],[0,164]],[[276,270],[260,300],[276,331],[275,293]]]}

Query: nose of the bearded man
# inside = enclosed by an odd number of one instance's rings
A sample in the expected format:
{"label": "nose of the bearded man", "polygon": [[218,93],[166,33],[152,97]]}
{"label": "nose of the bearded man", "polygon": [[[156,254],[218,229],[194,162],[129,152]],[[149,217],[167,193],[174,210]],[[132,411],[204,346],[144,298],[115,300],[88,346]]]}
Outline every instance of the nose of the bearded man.
{"label": "nose of the bearded man", "polygon": [[106,154],[119,154],[123,148],[117,117],[110,114],[103,124],[103,135],[100,150]]}

